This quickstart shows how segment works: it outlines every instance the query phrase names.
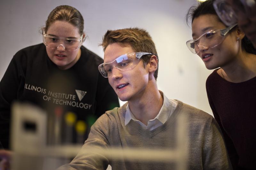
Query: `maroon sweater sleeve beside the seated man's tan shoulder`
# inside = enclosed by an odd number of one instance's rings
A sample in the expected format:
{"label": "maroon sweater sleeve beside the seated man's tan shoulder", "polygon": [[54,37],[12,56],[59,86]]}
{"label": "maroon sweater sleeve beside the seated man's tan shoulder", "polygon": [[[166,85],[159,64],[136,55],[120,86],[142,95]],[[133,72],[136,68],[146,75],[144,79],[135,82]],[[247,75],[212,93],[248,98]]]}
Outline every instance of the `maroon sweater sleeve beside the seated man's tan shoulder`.
{"label": "maroon sweater sleeve beside the seated man's tan shoulder", "polygon": [[216,111],[216,109],[214,107],[214,103],[213,103],[211,94],[210,94],[210,92],[209,92],[207,87],[206,87],[206,92],[207,92],[207,97],[208,97],[208,101],[209,101],[210,107],[212,109],[212,113],[214,115],[214,119],[218,122],[218,124],[220,126],[220,129],[221,129],[221,132],[223,134],[223,137],[224,137],[224,140],[225,140],[225,144],[227,146],[228,155],[229,155],[231,164],[232,164],[234,169],[237,169],[238,168],[237,167],[238,166],[237,165],[237,163],[238,163],[238,156],[237,156],[237,153],[236,153],[235,146],[234,146],[231,138],[228,136],[228,134],[226,133],[226,131],[224,130],[224,128],[222,126],[222,123],[221,123],[221,120],[220,120],[220,116],[219,116],[218,112]]}

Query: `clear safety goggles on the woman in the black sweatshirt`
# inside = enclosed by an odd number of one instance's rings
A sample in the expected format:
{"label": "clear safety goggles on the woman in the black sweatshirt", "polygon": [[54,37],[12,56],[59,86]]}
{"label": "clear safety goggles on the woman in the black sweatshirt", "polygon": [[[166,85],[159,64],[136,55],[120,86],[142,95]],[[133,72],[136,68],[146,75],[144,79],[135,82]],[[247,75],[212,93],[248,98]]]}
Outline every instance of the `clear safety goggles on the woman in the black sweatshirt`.
{"label": "clear safety goggles on the woman in the black sweatshirt", "polygon": [[47,48],[57,49],[62,46],[67,51],[74,51],[81,47],[83,35],[80,38],[65,38],[48,35],[43,31],[43,42]]}

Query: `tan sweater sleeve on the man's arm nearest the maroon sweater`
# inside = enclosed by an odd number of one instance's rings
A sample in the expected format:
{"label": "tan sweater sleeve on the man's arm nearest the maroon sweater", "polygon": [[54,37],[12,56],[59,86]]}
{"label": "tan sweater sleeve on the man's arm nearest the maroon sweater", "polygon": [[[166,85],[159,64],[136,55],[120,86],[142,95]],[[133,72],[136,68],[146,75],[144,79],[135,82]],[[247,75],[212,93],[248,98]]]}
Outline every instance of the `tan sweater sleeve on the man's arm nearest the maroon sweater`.
{"label": "tan sweater sleeve on the man's arm nearest the maroon sweater", "polygon": [[220,127],[212,118],[206,129],[206,141],[203,148],[203,169],[232,169]]}

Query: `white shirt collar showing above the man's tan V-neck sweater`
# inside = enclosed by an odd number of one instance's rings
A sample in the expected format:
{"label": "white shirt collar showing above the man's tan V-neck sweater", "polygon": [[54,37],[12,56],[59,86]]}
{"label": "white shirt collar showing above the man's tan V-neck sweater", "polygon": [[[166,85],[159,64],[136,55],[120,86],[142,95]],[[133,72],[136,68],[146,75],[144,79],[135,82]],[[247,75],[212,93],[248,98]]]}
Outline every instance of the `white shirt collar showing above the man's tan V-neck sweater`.
{"label": "white shirt collar showing above the man's tan V-neck sweater", "polygon": [[129,104],[126,106],[126,113],[125,113],[125,121],[124,125],[126,126],[131,120],[138,122],[142,128],[148,129],[148,130],[153,130],[156,129],[157,127],[163,125],[168,118],[172,115],[174,112],[175,108],[178,105],[178,101],[168,99],[163,92],[159,91],[161,95],[164,97],[164,102],[163,106],[161,107],[159,113],[156,115],[154,119],[151,119],[148,121],[148,125],[145,125],[144,123],[140,122],[135,118],[135,116],[132,114]]}

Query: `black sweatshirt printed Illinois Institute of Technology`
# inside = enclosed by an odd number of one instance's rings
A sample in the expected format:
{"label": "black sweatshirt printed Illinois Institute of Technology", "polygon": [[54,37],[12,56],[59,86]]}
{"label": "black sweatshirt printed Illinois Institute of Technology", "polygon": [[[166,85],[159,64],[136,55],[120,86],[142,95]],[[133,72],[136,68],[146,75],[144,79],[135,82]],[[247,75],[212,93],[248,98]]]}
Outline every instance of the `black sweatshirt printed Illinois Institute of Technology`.
{"label": "black sweatshirt printed Illinois Institute of Technology", "polygon": [[[71,112],[76,122],[84,121],[84,142],[92,123],[105,111],[119,107],[117,95],[108,79],[100,75],[98,66],[101,63],[102,58],[83,46],[81,57],[68,70],[58,69],[49,59],[44,44],[18,51],[0,82],[0,141],[4,148],[9,148],[10,108],[15,100],[43,108],[48,119],[55,119],[57,114],[63,115],[62,136],[67,127],[65,115]],[[72,142],[78,142],[76,122],[72,126]]]}

